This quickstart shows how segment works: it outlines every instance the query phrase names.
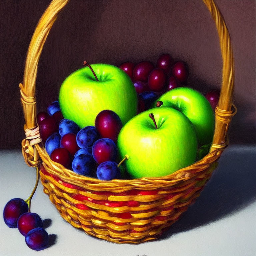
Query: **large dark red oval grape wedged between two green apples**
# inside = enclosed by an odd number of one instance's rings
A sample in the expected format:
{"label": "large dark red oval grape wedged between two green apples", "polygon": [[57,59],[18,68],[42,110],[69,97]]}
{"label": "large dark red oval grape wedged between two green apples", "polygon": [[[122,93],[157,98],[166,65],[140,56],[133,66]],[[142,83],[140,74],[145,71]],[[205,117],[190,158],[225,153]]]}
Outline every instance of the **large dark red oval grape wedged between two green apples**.
{"label": "large dark red oval grape wedged between two green apples", "polygon": [[96,116],[95,127],[102,138],[109,138],[116,142],[123,125],[114,111],[103,110]]}

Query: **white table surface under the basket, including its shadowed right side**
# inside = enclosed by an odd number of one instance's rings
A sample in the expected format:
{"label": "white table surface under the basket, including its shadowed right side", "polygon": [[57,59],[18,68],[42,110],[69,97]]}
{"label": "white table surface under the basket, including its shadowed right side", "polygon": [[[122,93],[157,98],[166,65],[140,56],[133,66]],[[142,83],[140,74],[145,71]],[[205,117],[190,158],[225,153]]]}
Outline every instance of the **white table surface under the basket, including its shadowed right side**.
{"label": "white table surface under the basket, including its shadowed right side", "polygon": [[48,219],[52,245],[38,252],[29,249],[19,231],[5,225],[2,213],[10,199],[30,195],[35,178],[35,169],[25,164],[21,151],[0,150],[1,256],[256,255],[255,146],[229,146],[196,203],[160,240],[139,245],[106,242],[72,227],[39,183],[31,211]]}

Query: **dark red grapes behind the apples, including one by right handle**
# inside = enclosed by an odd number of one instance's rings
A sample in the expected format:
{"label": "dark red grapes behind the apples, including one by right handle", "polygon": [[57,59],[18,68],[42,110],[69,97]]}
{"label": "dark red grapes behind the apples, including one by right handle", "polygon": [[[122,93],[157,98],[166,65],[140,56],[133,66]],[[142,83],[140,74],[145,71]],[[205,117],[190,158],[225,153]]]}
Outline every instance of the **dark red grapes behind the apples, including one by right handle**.
{"label": "dark red grapes behind the apples, including one by right handle", "polygon": [[[156,66],[150,61],[134,64],[130,61],[123,63],[124,70],[134,83],[138,95],[138,113],[152,107],[152,103],[163,93],[174,88],[185,86],[189,68],[184,61],[174,61],[170,54],[162,54]],[[215,109],[219,100],[219,91],[209,91],[205,97]]]}

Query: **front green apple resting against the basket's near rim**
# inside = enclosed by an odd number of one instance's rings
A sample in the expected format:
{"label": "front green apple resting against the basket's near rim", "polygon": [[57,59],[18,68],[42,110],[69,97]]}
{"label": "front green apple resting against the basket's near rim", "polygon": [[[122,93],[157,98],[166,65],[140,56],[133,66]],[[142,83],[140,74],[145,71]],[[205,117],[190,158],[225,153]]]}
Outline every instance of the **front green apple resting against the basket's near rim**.
{"label": "front green apple resting against the basket's near rim", "polygon": [[[154,114],[157,127],[148,116]],[[197,138],[189,119],[176,109],[159,107],[133,117],[120,131],[117,147],[133,178],[159,177],[194,163]]]}

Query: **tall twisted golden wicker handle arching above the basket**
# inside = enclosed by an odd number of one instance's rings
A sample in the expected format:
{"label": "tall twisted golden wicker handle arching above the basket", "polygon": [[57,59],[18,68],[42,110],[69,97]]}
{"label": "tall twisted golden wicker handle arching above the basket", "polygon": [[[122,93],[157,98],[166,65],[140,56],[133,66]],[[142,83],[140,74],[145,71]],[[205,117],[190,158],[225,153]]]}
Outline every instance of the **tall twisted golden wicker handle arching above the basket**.
{"label": "tall twisted golden wicker handle arching above the basket", "polygon": [[[202,0],[209,9],[219,34],[220,48],[223,59],[222,86],[218,106],[216,107],[216,122],[213,145],[211,150],[223,147],[226,143],[226,133],[233,115],[231,111],[233,86],[234,86],[234,63],[230,35],[225,21],[213,0]],[[23,85],[20,84],[21,102],[24,111],[24,130],[36,128],[36,75],[38,61],[48,36],[61,9],[69,0],[52,0],[43,13],[32,36],[25,64]],[[32,150],[33,151],[33,150]],[[36,149],[35,149],[36,151]],[[38,157],[39,158],[39,157]],[[38,159],[34,159],[38,160]]]}

